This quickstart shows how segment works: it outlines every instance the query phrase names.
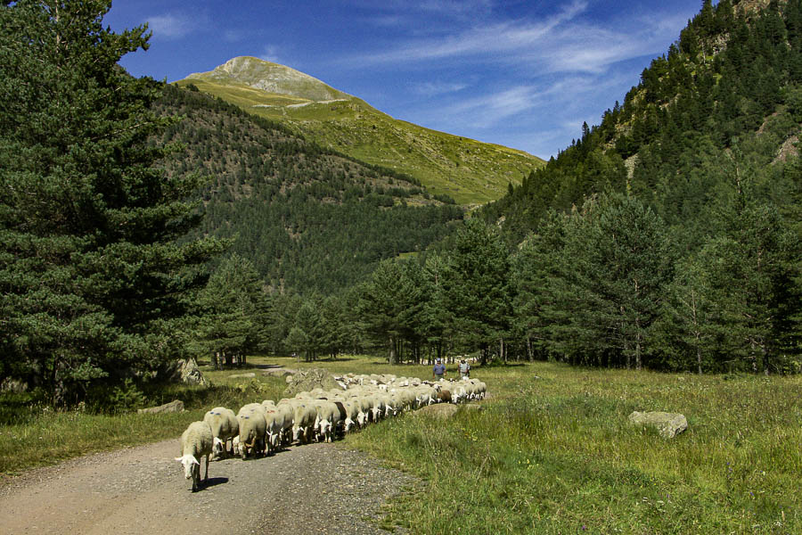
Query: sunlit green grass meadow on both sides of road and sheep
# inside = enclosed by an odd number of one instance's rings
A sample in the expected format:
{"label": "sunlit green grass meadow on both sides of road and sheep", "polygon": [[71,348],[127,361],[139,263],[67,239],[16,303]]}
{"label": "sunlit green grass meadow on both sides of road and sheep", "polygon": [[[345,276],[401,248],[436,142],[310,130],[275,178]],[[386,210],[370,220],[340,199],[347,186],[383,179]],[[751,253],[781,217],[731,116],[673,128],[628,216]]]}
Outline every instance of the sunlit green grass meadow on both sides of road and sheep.
{"label": "sunlit green grass meadow on both sides of road and sheep", "polygon": [[[379,358],[310,365],[426,377],[428,366]],[[31,411],[0,428],[0,472],[82,451],[175,437],[214,405],[279,398],[276,378],[207,372],[209,391],[176,389],[171,416]],[[426,481],[386,523],[415,533],[800,533],[802,377],[697,376],[584,370],[549,363],[475,368],[484,410],[446,422],[416,414],[372,425],[345,444]],[[687,416],[674,440],[627,423],[633,410]],[[31,445],[36,444],[37,448]],[[28,450],[35,450],[28,452]],[[21,458],[20,458],[21,457]]]}

